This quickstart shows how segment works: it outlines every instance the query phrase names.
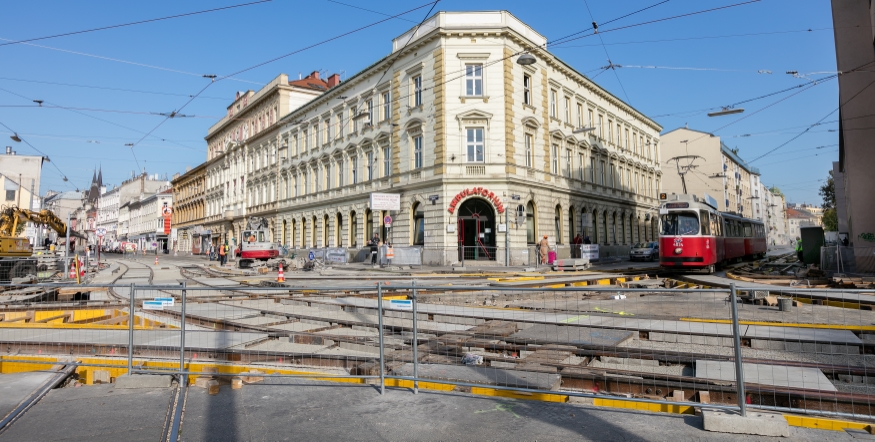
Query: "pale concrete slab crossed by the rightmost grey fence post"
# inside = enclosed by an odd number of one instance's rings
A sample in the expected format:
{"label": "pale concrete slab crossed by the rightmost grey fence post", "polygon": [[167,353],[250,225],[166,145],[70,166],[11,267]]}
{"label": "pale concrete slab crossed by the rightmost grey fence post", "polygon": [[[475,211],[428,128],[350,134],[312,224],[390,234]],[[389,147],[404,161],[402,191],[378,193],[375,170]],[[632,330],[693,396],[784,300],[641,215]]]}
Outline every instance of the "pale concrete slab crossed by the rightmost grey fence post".
{"label": "pale concrete slab crossed by the rightmost grey fence post", "polygon": [[[744,382],[774,385],[776,387],[836,391],[835,386],[816,368],[782,365],[742,364]],[[732,361],[696,360],[696,377],[735,381],[735,363]]]}

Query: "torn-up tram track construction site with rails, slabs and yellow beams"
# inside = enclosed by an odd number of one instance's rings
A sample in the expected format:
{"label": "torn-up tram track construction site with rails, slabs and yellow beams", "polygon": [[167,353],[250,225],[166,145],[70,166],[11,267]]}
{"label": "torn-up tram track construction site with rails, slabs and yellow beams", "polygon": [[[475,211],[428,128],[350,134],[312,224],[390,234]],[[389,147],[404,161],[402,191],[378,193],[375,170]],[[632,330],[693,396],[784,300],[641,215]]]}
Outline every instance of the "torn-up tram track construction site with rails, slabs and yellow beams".
{"label": "torn-up tram track construction site with rails, slabs and yellow beams", "polygon": [[773,435],[875,422],[872,282],[792,253],[714,275],[161,260],[4,287],[0,381],[45,379],[3,410],[0,436],[53,391],[140,385],[173,392],[162,437],[178,437],[191,394],[289,380],[682,415],[743,404],[785,418]]}

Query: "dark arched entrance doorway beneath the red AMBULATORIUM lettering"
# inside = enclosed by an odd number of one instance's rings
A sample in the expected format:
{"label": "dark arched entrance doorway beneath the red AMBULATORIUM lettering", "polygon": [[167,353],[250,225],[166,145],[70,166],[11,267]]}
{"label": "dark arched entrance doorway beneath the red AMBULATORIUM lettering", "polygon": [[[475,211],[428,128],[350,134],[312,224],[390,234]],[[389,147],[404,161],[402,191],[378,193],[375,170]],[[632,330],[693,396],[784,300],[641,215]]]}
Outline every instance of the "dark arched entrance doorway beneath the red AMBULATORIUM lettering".
{"label": "dark arched entrance doorway beneath the red AMBULATORIUM lettering", "polygon": [[472,198],[457,213],[459,261],[495,261],[495,209],[486,200]]}

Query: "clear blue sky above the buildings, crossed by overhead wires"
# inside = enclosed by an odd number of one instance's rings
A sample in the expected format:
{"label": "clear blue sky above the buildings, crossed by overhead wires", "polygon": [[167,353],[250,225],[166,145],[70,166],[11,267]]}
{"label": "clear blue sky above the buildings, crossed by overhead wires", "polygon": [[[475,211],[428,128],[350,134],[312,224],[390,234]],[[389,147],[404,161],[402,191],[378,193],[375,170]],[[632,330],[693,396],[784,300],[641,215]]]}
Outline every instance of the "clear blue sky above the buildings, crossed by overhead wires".
{"label": "clear blue sky above the buildings, crossed by overhead wires", "polygon": [[[144,168],[172,177],[206,159],[207,129],[237,91],[257,91],[280,73],[297,78],[319,70],[346,79],[387,55],[393,38],[425,18],[427,1],[6,2],[0,123],[10,129],[0,126],[0,135],[19,154],[49,156],[43,192],[87,189],[96,167],[110,186]],[[257,3],[232,7],[247,2]],[[688,125],[715,133],[788,201],[819,205],[817,190],[838,158],[830,2],[761,0],[671,18],[744,2],[441,0],[435,10],[506,9],[549,41],[606,23],[597,35],[583,32],[549,50],[665,131]],[[42,38],[216,8],[225,9]],[[27,39],[38,40],[5,44]],[[203,77],[222,78],[290,53],[220,81]],[[603,69],[608,60],[619,67]],[[785,89],[737,105],[742,114],[706,115]],[[158,115],[171,111],[189,117]],[[10,140],[10,130],[30,145]]]}

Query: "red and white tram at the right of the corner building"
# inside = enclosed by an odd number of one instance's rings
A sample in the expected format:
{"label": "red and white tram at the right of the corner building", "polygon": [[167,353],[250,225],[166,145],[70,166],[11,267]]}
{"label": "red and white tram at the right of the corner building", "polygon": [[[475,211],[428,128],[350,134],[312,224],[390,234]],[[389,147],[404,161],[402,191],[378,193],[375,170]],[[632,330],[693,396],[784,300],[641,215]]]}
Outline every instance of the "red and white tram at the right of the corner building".
{"label": "red and white tram at the right of the corner building", "polygon": [[660,205],[659,264],[667,269],[706,270],[766,255],[762,221],[719,212],[706,195],[666,195]]}

